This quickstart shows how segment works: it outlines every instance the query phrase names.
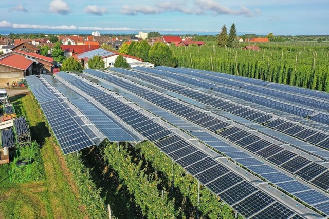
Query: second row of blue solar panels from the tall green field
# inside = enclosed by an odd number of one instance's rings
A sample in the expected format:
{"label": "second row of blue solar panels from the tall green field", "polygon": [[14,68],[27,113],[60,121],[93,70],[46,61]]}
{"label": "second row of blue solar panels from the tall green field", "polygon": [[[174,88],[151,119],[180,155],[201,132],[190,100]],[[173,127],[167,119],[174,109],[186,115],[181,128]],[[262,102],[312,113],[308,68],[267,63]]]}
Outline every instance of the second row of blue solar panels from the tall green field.
{"label": "second row of blue solar panels from the tall green field", "polygon": [[[143,67],[135,67],[135,69],[142,69]],[[158,67],[157,67],[158,68]],[[168,68],[168,67],[165,67]],[[145,68],[144,68],[145,69]],[[226,94],[228,96],[236,97],[239,99],[243,99],[244,101],[248,101],[251,103],[255,103],[261,106],[269,107],[272,109],[280,110],[282,112],[286,112],[295,116],[300,116],[300,117],[308,117],[313,115],[316,111],[315,110],[310,110],[310,109],[305,109],[300,106],[296,106],[293,104],[289,103],[282,103],[280,101],[276,101],[274,99],[266,98],[264,96],[260,95],[254,95],[250,94],[247,91],[241,91],[237,90],[236,88],[229,88],[225,86],[217,86],[213,83],[208,83],[204,81],[200,81],[200,79],[195,79],[195,78],[190,78],[187,75],[178,75],[176,73],[168,72],[168,71],[163,71],[163,70],[158,70],[158,69],[151,69],[149,72],[156,73],[156,74],[161,74],[163,76],[167,76],[173,79],[176,79],[177,81],[184,82],[184,83],[189,83],[191,85],[196,85],[198,87],[206,88],[206,89],[212,89],[216,92]],[[326,115],[323,113],[320,113],[321,115]],[[319,115],[315,115],[313,117],[310,117],[310,120],[319,120]],[[319,121],[317,121],[319,122]],[[329,121],[323,120],[322,123],[324,124],[329,124],[327,123]]]}

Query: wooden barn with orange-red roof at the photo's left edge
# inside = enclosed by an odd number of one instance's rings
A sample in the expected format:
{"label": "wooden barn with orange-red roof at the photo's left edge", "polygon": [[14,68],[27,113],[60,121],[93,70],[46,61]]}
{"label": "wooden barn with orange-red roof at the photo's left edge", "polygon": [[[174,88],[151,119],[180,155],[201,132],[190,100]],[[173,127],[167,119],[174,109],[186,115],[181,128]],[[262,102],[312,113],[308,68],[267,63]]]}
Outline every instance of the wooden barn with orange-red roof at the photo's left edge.
{"label": "wooden barn with orange-red roof at the photo's left edge", "polygon": [[17,82],[20,78],[31,75],[33,61],[24,56],[11,54],[0,57],[0,86],[6,86],[7,82]]}

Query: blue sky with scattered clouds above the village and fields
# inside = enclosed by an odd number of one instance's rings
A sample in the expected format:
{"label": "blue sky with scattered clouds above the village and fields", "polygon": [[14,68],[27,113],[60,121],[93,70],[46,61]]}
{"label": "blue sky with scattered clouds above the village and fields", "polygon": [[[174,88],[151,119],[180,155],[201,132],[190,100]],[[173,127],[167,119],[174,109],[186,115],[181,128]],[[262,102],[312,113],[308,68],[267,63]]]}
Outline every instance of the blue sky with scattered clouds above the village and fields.
{"label": "blue sky with scattered clouds above the village and fields", "polygon": [[240,35],[329,35],[328,0],[11,0],[1,9],[0,33],[207,35],[234,23]]}

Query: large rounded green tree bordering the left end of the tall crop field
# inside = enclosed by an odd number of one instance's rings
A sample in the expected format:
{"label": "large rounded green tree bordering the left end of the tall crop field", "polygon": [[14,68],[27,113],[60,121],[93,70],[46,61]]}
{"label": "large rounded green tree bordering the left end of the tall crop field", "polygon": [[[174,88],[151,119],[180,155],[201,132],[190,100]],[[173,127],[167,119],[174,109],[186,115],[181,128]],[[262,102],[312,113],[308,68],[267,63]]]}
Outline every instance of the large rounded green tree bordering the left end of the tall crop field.
{"label": "large rounded green tree bordering the left end of the tall crop field", "polygon": [[172,50],[161,42],[155,43],[149,51],[149,62],[155,66],[177,67],[178,61],[173,56]]}

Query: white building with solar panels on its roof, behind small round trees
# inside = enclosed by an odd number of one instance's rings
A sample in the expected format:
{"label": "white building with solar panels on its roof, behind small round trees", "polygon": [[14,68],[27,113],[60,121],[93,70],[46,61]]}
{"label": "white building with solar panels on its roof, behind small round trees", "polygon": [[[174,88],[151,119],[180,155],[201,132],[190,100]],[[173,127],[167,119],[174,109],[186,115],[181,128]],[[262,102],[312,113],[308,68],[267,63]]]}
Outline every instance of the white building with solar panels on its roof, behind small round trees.
{"label": "white building with solar panels on its roof, behind small round trees", "polygon": [[95,49],[92,51],[88,51],[88,52],[84,52],[84,53],[81,53],[78,55],[74,55],[73,57],[75,57],[75,59],[77,59],[84,68],[88,68],[89,59],[93,58],[96,55],[99,55],[103,59],[103,61],[105,62],[105,68],[114,67],[115,59],[119,55],[122,55],[128,63],[134,63],[137,61],[143,62],[143,60],[140,58],[137,58],[137,57],[134,57],[131,55],[121,54],[121,53],[115,52],[115,51],[101,49],[101,48]]}

